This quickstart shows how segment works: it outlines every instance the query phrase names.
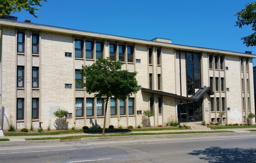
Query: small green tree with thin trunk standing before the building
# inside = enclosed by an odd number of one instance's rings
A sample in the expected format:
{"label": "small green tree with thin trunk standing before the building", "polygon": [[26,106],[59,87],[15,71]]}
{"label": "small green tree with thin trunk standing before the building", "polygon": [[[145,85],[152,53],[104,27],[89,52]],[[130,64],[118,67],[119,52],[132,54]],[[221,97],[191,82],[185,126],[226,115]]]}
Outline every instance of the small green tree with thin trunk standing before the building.
{"label": "small green tree with thin trunk standing before the building", "polygon": [[106,112],[108,101],[111,97],[125,100],[139,91],[135,76],[137,72],[121,70],[123,63],[110,61],[109,58],[99,58],[92,65],[83,65],[80,73],[85,77],[85,83],[76,80],[86,87],[89,94],[94,93],[94,98],[102,98],[106,103],[104,109],[104,125],[102,135],[105,132]]}

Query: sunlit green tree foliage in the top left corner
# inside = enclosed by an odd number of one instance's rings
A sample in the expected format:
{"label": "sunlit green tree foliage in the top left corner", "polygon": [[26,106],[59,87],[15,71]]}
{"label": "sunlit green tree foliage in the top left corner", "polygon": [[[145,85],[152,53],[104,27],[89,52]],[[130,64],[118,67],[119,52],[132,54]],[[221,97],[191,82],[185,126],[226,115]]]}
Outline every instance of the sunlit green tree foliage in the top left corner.
{"label": "sunlit green tree foliage in the top left corner", "polygon": [[39,7],[42,7],[41,1],[47,2],[48,0],[0,0],[0,16],[10,15],[16,11],[19,13],[24,9],[37,18],[35,14]]}

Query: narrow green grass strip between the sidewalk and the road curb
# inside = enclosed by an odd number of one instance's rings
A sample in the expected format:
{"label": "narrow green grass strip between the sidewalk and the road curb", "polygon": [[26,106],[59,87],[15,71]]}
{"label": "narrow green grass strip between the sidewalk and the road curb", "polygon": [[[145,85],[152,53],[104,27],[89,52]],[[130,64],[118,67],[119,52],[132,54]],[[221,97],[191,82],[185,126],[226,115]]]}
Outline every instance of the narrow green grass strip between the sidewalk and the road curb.
{"label": "narrow green grass strip between the sidewalk and the road curb", "polygon": [[141,135],[170,135],[170,134],[207,134],[207,133],[225,133],[232,131],[183,131],[183,132],[162,132],[162,133],[129,133],[129,134],[106,134],[102,135],[82,135],[82,136],[66,136],[66,137],[48,137],[48,138],[27,138],[26,140],[75,140],[81,138],[95,138],[95,137],[114,137],[114,136],[141,136]]}

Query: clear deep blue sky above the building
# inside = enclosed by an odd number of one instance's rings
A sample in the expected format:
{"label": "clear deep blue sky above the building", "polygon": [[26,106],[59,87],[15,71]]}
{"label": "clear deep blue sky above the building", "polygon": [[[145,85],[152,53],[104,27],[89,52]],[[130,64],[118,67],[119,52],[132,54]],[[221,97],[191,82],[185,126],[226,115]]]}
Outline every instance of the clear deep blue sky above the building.
{"label": "clear deep blue sky above the building", "polygon": [[[235,27],[236,14],[253,0],[48,0],[37,12],[14,13],[18,21],[80,29],[117,36],[244,53],[241,37],[251,26]],[[254,66],[256,65],[256,59]]]}

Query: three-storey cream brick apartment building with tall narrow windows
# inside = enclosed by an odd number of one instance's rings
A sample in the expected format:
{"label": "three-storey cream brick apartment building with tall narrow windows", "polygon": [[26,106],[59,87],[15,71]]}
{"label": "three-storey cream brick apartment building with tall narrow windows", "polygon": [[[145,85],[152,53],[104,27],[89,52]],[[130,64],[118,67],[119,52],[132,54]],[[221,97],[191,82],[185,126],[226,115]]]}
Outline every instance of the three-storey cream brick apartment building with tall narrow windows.
{"label": "three-storey cream brick apartment building with tall narrow windows", "polygon": [[[250,52],[141,40],[29,21],[0,19],[1,127],[54,128],[59,108],[68,110],[68,127],[103,125],[104,102],[75,79],[79,69],[99,57],[137,71],[141,90],[126,100],[110,99],[106,126],[141,125],[143,111],[154,110],[151,125],[182,122],[245,123],[255,112]],[[255,123],[255,120],[254,120]]]}

